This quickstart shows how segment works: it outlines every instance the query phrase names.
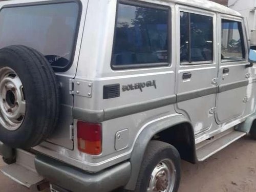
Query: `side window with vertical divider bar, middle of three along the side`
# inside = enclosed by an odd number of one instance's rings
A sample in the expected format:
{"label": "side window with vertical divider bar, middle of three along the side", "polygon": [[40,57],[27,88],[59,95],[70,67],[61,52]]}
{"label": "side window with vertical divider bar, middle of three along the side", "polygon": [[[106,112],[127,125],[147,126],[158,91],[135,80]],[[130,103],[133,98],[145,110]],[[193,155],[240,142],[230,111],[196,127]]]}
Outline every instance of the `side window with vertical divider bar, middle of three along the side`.
{"label": "side window with vertical divider bar, middle of three along the side", "polygon": [[212,17],[180,13],[180,61],[212,61],[214,29]]}

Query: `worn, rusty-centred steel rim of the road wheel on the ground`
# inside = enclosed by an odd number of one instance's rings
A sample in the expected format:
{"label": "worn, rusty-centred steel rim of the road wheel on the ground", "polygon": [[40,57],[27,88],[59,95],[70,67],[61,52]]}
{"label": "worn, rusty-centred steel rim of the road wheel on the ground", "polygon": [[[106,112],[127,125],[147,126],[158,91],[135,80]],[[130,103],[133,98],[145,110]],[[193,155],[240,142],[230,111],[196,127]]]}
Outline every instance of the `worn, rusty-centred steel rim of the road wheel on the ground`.
{"label": "worn, rusty-centred steel rim of the road wheel on the ground", "polygon": [[172,160],[164,159],[153,169],[147,192],[172,192],[175,181],[175,165]]}

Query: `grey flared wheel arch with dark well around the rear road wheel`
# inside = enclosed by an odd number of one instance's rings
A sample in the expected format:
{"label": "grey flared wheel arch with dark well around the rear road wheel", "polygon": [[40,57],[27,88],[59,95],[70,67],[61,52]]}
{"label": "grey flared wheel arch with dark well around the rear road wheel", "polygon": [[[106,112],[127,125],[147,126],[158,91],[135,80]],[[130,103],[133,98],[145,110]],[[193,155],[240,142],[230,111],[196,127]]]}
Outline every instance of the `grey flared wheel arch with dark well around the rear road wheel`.
{"label": "grey flared wheel arch with dark well around the rear road wheel", "polygon": [[[182,127],[185,127],[185,128],[182,129]],[[172,132],[169,130],[177,130],[175,132],[180,133],[179,129],[185,130],[185,134],[184,132],[182,132],[183,134],[180,134],[180,136],[183,135],[183,138],[186,138],[187,141],[189,141],[189,145],[187,145],[188,148],[186,148],[186,152],[190,151],[189,156],[185,157],[184,153],[181,153],[182,159],[185,159],[191,163],[196,162],[195,136],[194,136],[193,126],[191,125],[190,121],[181,114],[175,114],[175,115],[167,116],[165,118],[161,118],[157,121],[154,121],[146,125],[143,128],[143,130],[139,133],[135,141],[133,152],[130,159],[131,165],[132,165],[131,177],[129,182],[124,187],[125,189],[128,189],[128,190],[135,189],[137,178],[140,171],[140,166],[143,160],[146,147],[152,139],[164,141],[164,142],[173,144],[174,146],[176,145],[175,147],[178,147],[177,150],[178,151],[181,150],[182,152],[182,148],[179,147],[177,144],[166,140],[166,138],[163,138],[163,137],[161,138],[161,135],[165,135],[166,132]],[[172,134],[172,133],[168,133],[168,134]]]}

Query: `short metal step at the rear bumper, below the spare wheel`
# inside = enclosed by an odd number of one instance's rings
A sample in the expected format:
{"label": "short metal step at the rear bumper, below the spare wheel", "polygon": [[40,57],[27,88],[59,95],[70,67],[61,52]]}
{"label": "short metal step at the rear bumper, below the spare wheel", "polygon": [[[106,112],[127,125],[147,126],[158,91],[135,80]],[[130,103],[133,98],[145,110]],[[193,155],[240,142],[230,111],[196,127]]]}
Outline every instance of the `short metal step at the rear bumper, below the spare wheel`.
{"label": "short metal step at the rear bumper, below the spare wheel", "polygon": [[44,181],[35,170],[35,156],[23,150],[16,151],[16,163],[1,168],[1,172],[17,183],[36,189],[36,186]]}

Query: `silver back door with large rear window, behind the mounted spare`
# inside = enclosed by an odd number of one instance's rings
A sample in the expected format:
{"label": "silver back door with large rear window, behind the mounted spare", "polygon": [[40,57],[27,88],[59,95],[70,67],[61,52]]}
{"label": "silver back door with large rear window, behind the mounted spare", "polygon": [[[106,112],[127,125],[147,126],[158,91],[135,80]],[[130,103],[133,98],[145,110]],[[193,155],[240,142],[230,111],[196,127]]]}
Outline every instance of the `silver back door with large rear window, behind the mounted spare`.
{"label": "silver back door with large rear window, behind the mounted spare", "polygon": [[69,84],[76,73],[80,48],[77,39],[81,39],[87,3],[87,0],[82,3],[75,0],[0,2],[0,48],[10,45],[34,48],[46,57],[56,72],[60,85],[60,115],[48,142],[71,150],[73,96],[69,93]]}

